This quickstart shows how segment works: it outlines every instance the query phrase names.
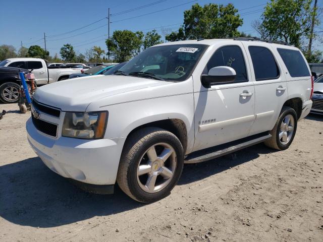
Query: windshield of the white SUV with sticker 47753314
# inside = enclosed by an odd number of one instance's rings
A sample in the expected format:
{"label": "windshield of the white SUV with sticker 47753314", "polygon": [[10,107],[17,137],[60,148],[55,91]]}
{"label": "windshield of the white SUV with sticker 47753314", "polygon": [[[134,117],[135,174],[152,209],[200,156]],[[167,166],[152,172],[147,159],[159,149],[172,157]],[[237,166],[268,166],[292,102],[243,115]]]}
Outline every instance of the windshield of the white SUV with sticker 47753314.
{"label": "windshield of the white SUV with sticker 47753314", "polygon": [[[193,72],[207,45],[174,44],[150,47],[120,68],[119,74],[184,81]],[[119,75],[117,74],[117,75]],[[149,78],[148,75],[142,77]]]}

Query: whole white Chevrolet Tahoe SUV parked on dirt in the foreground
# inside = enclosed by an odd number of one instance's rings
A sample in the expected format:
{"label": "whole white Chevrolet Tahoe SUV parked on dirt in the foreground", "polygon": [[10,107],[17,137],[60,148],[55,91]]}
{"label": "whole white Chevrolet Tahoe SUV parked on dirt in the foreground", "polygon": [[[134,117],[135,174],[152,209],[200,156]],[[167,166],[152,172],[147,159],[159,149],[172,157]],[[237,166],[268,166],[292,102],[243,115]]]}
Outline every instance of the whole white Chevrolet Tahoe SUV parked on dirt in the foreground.
{"label": "whole white Chevrolet Tahoe SUV parked on dirt in the foreground", "polygon": [[37,89],[28,141],[81,188],[167,196],[184,163],[264,142],[287,149],[312,105],[310,69],[295,47],[237,38],[150,47],[112,76]]}

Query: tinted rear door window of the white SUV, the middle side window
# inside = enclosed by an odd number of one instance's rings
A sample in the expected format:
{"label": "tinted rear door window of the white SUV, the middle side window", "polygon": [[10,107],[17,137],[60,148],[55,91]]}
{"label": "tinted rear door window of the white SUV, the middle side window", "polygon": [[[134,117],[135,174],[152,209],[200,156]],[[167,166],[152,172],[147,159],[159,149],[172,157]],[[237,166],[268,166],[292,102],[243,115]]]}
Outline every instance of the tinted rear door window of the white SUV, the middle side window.
{"label": "tinted rear door window of the white SUV, the middle side window", "polygon": [[279,69],[272,52],[260,46],[249,46],[256,81],[273,80],[279,77]]}

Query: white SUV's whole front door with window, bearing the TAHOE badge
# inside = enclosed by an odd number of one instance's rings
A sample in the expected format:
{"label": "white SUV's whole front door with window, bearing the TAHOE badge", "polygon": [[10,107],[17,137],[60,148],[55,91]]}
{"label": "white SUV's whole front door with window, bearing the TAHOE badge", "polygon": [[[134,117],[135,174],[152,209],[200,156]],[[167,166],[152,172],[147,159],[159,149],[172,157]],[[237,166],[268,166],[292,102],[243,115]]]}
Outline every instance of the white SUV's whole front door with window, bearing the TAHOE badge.
{"label": "white SUV's whole front door with window, bearing the TAHOE badge", "polygon": [[[195,143],[193,151],[247,137],[254,121],[254,87],[249,82],[248,60],[240,42],[220,46],[209,58],[203,74],[217,66],[232,67],[236,81],[230,84],[201,86],[194,93]],[[195,82],[195,80],[194,80]]]}

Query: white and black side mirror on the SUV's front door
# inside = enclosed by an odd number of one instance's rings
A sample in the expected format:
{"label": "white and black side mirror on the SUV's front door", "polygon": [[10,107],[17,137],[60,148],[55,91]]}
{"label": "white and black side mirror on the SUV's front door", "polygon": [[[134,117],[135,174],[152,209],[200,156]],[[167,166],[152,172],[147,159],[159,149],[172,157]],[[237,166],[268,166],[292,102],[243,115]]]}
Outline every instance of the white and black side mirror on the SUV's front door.
{"label": "white and black side mirror on the SUV's front door", "polygon": [[236,80],[236,71],[231,67],[213,67],[208,75],[201,76],[202,85],[210,88],[213,84],[228,84]]}

